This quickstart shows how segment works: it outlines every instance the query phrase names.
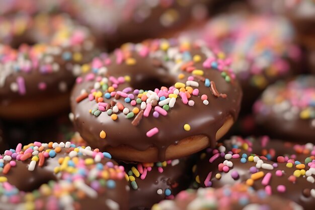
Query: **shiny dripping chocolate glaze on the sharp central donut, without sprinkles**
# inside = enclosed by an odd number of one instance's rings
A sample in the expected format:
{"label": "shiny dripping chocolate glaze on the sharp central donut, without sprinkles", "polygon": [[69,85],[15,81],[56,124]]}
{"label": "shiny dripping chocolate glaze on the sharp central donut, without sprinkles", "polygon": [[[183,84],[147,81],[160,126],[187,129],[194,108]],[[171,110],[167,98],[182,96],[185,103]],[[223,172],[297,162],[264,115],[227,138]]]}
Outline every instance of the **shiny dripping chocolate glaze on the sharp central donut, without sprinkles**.
{"label": "shiny dripping chocolate glaze on the sharp central donut, without sprinkles", "polygon": [[[152,43],[151,43],[152,44]],[[204,50],[204,49],[202,49]],[[166,149],[173,144],[177,144],[181,139],[204,134],[209,137],[210,146],[214,147],[215,134],[217,130],[224,124],[228,116],[232,116],[234,121],[238,117],[240,110],[240,103],[242,98],[242,91],[237,81],[226,82],[221,76],[221,72],[213,68],[204,68],[203,61],[206,55],[199,47],[189,50],[191,56],[200,55],[201,61],[194,64],[196,69],[204,69],[204,78],[209,78],[214,81],[216,88],[220,93],[227,95],[226,98],[215,97],[212,95],[210,88],[205,87],[204,82],[199,79],[199,96],[192,96],[191,99],[195,101],[193,107],[182,103],[178,97],[174,108],[171,108],[167,116],[160,115],[159,118],[152,116],[152,110],[148,117],[143,117],[140,124],[133,126],[130,119],[127,119],[123,113],[117,113],[118,120],[113,121],[106,113],[101,113],[99,117],[95,117],[89,113],[90,109],[97,108],[95,100],[90,101],[84,99],[80,103],[75,101],[75,98],[81,95],[84,89],[90,92],[94,87],[95,80],[84,81],[81,84],[76,84],[71,94],[71,111],[74,114],[74,125],[80,132],[82,137],[89,145],[96,146],[101,150],[106,150],[107,147],[128,146],[136,150],[144,151],[150,147],[156,147],[159,150],[159,161],[165,160]],[[163,53],[161,50],[152,53],[155,56],[158,53]],[[171,74],[170,69],[174,67],[173,60],[168,62],[161,58],[160,66],[156,67],[156,59],[149,57],[141,57],[138,53],[131,51],[131,56],[135,58],[136,64],[127,65],[125,62],[117,64],[115,62],[116,55],[110,56],[112,63],[107,66],[108,74],[110,76],[119,77],[128,75],[131,78],[131,83],[124,83],[118,86],[117,90],[123,90],[126,87],[132,88],[146,88],[150,87],[147,81],[156,81],[157,84],[174,84],[177,82],[186,83],[187,77],[191,74],[186,72],[176,72]],[[154,64],[155,63],[155,64]],[[167,67],[171,66],[171,67]],[[179,73],[185,74],[184,79],[175,79]],[[172,83],[173,82],[173,83]],[[134,87],[136,86],[136,87]],[[155,88],[160,88],[156,86]],[[204,105],[200,96],[205,94],[208,96],[209,105]],[[137,97],[137,96],[136,96]],[[130,104],[124,103],[122,97],[120,99],[104,98],[104,102],[109,103],[111,100],[121,102],[125,107],[132,110]],[[140,108],[139,105],[136,105]],[[185,123],[190,124],[191,130],[185,131],[183,126]],[[157,127],[160,132],[147,137],[146,132],[153,127]],[[104,130],[107,133],[105,139],[100,137],[100,131]]]}

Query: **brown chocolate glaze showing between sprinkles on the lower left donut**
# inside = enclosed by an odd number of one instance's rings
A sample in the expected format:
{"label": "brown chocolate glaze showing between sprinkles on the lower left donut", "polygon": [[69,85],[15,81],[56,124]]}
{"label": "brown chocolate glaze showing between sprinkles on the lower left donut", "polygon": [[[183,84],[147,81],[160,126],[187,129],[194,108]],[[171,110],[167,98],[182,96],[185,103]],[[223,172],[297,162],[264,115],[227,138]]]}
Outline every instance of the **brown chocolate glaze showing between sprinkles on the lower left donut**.
{"label": "brown chocolate glaze showing between sprinkles on the lower left donut", "polygon": [[[48,149],[48,148],[47,148]],[[60,177],[58,177],[54,173],[54,168],[60,166],[58,163],[59,158],[64,158],[68,156],[69,149],[63,148],[61,149],[60,153],[57,153],[56,157],[54,158],[46,158],[45,163],[42,167],[39,167],[38,165],[35,167],[34,171],[28,170],[28,165],[30,164],[31,160],[28,159],[26,161],[17,161],[16,166],[12,167],[8,174],[1,173],[1,176],[5,176],[8,178],[8,182],[14,186],[16,186],[20,191],[25,192],[32,192],[34,190],[37,190],[41,185],[43,184],[49,184],[49,182],[56,181],[58,182]],[[88,156],[80,157],[80,159],[86,159],[89,158]],[[110,159],[102,159],[100,163],[103,165],[107,162],[113,162],[115,165],[116,162],[110,160]],[[5,165],[8,163],[8,161],[4,162]],[[87,184],[90,184],[90,181],[88,178],[85,178],[85,182]],[[106,187],[102,187],[100,191],[98,192],[97,198],[91,198],[89,196],[85,196],[82,199],[75,200],[75,205],[79,204],[80,209],[91,209],[91,208],[102,208],[106,210],[113,210],[113,208],[110,207],[110,205],[107,204],[108,200],[113,200],[119,204],[119,209],[121,210],[127,210],[128,209],[128,199],[129,199],[129,192],[128,187],[125,179],[121,180],[115,180],[116,187],[114,189],[109,189]],[[52,183],[50,183],[52,184]],[[20,194],[23,199],[23,193]],[[51,195],[50,195],[51,196]],[[57,201],[56,197],[56,201]],[[40,197],[36,198],[36,202],[42,203],[43,206],[39,209],[47,209],[47,203],[48,200],[47,196],[40,195]],[[12,204],[12,203],[6,203],[6,201],[0,201],[2,209],[9,210],[9,209],[17,209],[17,206],[19,203]],[[61,207],[61,206],[59,206]],[[60,208],[63,209],[63,208]],[[116,209],[116,208],[115,208]]]}

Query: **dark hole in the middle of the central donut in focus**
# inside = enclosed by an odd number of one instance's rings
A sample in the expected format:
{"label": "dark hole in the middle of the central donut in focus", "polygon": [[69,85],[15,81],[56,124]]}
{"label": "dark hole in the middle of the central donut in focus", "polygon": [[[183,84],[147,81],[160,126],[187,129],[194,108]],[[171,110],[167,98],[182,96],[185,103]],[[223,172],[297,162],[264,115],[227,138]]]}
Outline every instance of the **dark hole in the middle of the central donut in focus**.
{"label": "dark hole in the middle of the central donut in focus", "polygon": [[164,78],[153,78],[153,77],[145,77],[138,78],[134,82],[131,82],[131,86],[134,89],[142,89],[142,90],[154,90],[155,88],[160,89],[161,87],[171,87],[175,84],[175,78],[171,76],[167,76]]}

